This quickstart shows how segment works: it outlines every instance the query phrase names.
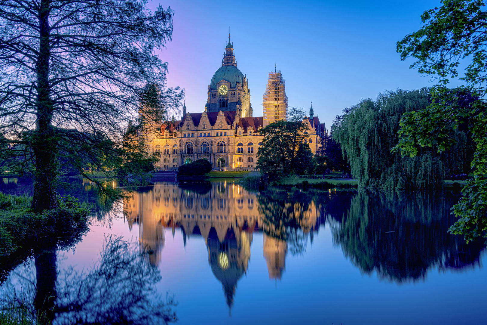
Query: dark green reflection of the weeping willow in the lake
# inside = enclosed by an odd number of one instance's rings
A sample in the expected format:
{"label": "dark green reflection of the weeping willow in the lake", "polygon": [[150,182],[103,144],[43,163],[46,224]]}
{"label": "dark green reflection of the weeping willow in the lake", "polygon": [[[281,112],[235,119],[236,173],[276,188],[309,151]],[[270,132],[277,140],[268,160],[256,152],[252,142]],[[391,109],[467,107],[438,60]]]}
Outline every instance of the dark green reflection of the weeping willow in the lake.
{"label": "dark green reflection of the weeping willow in the lake", "polygon": [[334,242],[361,271],[387,281],[423,279],[433,267],[474,267],[485,244],[467,245],[447,233],[453,204],[443,193],[359,191],[347,214],[332,223]]}

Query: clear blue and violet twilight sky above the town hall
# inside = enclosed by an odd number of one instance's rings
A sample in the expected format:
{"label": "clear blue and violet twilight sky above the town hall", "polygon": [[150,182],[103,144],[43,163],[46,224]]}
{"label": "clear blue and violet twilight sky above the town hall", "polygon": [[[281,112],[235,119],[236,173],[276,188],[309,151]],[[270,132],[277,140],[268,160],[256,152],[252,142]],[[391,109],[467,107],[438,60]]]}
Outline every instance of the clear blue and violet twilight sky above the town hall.
{"label": "clear blue and violet twilight sky above the town hall", "polygon": [[[237,67],[247,75],[254,116],[262,116],[268,72],[281,70],[289,107],[306,109],[329,129],[335,115],[385,90],[431,86],[409,69],[395,43],[421,26],[439,0],[197,1],[153,0],[168,6],[174,32],[160,58],[168,85],[186,91],[188,113],[203,112],[211,77],[221,66],[230,27]],[[178,116],[177,116],[178,117]]]}

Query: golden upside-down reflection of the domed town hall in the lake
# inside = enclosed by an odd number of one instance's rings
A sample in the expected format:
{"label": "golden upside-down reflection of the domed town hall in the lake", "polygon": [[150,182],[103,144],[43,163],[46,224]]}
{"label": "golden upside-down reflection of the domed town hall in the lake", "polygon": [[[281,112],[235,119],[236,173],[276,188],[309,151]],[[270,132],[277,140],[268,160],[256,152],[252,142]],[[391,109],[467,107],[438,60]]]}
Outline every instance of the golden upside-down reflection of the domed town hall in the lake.
{"label": "golden upside-down reflection of the domed town hall in the lake", "polygon": [[[153,265],[160,262],[164,228],[172,228],[173,233],[180,228],[184,245],[187,236],[205,238],[209,265],[223,285],[228,306],[233,304],[237,282],[247,271],[253,232],[264,232],[263,256],[269,278],[281,279],[287,254],[287,243],[279,236],[281,229],[269,226],[257,195],[239,185],[156,183],[148,191],[135,192],[124,201],[123,208],[129,229],[133,223],[139,225],[140,245],[149,251]],[[292,210],[305,234],[318,230],[320,209],[313,201],[306,210],[302,208],[300,204],[278,207],[281,211]]]}

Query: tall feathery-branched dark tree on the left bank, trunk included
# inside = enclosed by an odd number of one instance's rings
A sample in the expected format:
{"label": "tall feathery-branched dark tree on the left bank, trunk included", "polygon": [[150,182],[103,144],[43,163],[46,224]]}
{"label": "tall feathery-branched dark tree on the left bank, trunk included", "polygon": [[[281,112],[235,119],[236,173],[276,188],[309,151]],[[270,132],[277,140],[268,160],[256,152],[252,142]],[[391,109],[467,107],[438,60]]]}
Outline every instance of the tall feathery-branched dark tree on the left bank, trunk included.
{"label": "tall feathery-branched dark tree on the left bank, trunk included", "polygon": [[167,63],[154,55],[171,38],[173,11],[146,4],[0,2],[0,150],[32,169],[33,210],[56,208],[61,153],[114,172],[137,158],[122,150],[128,121],[179,105],[183,94],[165,88]]}

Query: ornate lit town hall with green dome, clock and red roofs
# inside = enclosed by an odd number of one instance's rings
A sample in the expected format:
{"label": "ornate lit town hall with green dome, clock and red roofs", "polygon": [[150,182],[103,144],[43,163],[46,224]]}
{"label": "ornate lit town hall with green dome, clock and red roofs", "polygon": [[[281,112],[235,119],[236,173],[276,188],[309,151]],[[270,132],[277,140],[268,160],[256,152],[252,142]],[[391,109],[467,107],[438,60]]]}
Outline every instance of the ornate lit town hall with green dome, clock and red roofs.
{"label": "ornate lit town hall with green dome, clock and red roofs", "polygon": [[[285,99],[287,113],[287,97]],[[287,118],[286,114],[279,117]],[[203,158],[214,169],[255,170],[257,152],[262,146],[263,136],[259,131],[263,122],[262,116],[252,116],[247,77],[237,68],[228,35],[222,66],[208,85],[205,111],[187,113],[185,105],[181,120],[173,119],[156,126],[150,123],[151,126],[144,127],[143,134],[152,152],[160,155],[155,166],[159,170],[177,168]],[[303,123],[308,124],[309,146],[316,153],[321,137],[326,134],[325,125],[319,123],[312,111],[310,117],[303,118]]]}

